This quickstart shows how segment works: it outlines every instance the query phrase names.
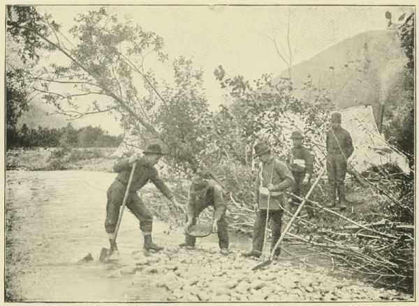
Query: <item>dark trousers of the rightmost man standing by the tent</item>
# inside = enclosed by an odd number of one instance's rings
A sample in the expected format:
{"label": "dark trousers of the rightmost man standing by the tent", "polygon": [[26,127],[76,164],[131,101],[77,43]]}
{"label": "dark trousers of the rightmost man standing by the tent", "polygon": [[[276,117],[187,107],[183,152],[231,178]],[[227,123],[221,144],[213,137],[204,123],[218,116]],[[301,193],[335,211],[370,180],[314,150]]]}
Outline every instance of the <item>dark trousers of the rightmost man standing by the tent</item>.
{"label": "dark trousers of the rightmost man standing by the tent", "polygon": [[328,181],[330,185],[329,196],[332,201],[335,201],[336,191],[339,194],[339,201],[341,198],[344,198],[346,167],[346,159],[341,153],[328,153],[326,171],[328,171]]}

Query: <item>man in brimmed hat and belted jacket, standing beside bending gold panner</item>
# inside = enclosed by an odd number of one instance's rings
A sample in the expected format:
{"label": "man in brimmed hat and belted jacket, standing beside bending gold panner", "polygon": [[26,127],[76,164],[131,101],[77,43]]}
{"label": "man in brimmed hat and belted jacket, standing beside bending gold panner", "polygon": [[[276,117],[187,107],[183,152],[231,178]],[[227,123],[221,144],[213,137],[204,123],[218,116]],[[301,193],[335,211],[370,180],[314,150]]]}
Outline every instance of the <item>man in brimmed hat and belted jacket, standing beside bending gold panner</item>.
{"label": "man in brimmed hat and belted jacket, standing beside bending gold panner", "polygon": [[[272,229],[271,252],[281,236],[282,208],[286,204],[284,191],[293,188],[294,178],[284,162],[279,161],[270,152],[270,146],[261,142],[254,147],[253,158],[258,157],[261,165],[256,175],[254,202],[258,206],[256,220],[253,224],[252,250],[245,257],[260,257],[265,243],[266,218],[269,217]],[[269,222],[269,220],[268,220]],[[279,255],[278,247],[275,256]]]}

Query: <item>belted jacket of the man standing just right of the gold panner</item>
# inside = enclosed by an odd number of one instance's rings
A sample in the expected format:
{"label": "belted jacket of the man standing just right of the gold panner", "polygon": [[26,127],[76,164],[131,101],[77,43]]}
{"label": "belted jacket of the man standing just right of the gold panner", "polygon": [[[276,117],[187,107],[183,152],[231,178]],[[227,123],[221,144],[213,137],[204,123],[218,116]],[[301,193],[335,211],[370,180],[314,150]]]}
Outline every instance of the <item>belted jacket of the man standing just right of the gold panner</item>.
{"label": "belted jacket of the man standing just right of the gold panner", "polygon": [[[293,174],[291,174],[291,171],[288,167],[286,167],[285,163],[272,156],[269,162],[266,162],[266,164],[262,163],[262,165],[260,165],[256,174],[255,197],[253,199],[255,203],[267,200],[266,195],[260,194],[259,188],[267,188],[267,185],[271,183],[271,177],[272,185],[274,185],[274,189],[270,191],[271,197],[276,197],[274,194],[278,194],[288,188],[292,188],[295,183]],[[262,178],[262,184],[260,184],[260,178]],[[280,197],[283,196],[281,195]]]}

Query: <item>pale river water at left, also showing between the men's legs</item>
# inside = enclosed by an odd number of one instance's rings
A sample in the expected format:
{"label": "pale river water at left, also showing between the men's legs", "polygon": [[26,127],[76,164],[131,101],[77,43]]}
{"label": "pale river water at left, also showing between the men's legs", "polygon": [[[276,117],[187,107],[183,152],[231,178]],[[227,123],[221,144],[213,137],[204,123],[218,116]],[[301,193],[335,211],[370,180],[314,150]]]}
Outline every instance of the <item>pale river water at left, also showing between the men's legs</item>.
{"label": "pale river water at left, also showing between the men's legs", "polygon": [[[115,174],[94,171],[6,172],[6,298],[31,301],[165,300],[166,289],[135,275],[110,277],[98,263],[105,234],[106,190]],[[166,247],[183,240],[182,229],[154,220],[154,240]],[[250,238],[231,237],[233,247],[250,247]],[[217,245],[216,235],[199,240]],[[234,245],[235,244],[235,245]],[[138,221],[124,213],[118,234],[121,260],[142,249]],[[87,253],[94,263],[78,265]],[[158,298],[156,298],[158,297]]]}

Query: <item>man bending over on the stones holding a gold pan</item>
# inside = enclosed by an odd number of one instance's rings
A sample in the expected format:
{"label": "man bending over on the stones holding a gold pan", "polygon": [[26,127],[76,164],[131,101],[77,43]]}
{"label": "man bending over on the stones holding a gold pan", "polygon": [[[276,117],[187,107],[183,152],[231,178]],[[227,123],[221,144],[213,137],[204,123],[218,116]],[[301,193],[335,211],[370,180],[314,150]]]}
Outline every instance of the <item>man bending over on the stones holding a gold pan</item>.
{"label": "man bending over on the stones holding a gold pan", "polygon": [[[206,180],[200,176],[193,176],[191,187],[189,188],[189,200],[186,207],[186,226],[196,224],[201,211],[208,206],[214,207],[214,218],[212,220],[212,232],[219,237],[220,252],[228,254],[228,223],[226,220],[227,206],[223,199],[223,190],[214,180]],[[185,242],[180,247],[195,247],[196,237],[185,232]]]}

